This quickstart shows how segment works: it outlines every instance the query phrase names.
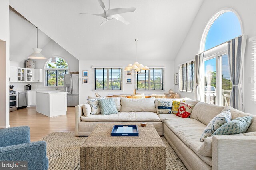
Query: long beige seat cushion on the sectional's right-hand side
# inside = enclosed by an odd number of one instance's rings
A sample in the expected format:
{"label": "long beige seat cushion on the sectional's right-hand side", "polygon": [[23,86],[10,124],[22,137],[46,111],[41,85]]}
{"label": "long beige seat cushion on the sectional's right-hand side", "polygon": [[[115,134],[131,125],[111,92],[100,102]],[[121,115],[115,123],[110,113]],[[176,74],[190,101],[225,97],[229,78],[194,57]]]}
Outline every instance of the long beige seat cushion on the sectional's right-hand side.
{"label": "long beige seat cushion on the sectional's right-hand side", "polygon": [[181,118],[174,114],[171,115],[173,115],[172,119],[165,119],[164,121],[166,126],[175,133],[186,146],[206,162],[206,164],[212,166],[212,158],[202,156],[198,152],[199,148],[203,145],[199,140],[206,125],[195,119]]}

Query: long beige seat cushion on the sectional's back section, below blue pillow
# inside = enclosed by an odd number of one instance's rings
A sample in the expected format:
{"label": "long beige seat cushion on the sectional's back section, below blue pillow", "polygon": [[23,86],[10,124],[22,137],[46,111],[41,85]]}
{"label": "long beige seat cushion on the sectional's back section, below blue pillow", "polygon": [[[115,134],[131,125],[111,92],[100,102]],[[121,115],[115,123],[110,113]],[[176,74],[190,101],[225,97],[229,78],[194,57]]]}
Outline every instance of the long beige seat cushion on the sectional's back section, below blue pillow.
{"label": "long beige seat cushion on the sectional's back section, below blue pillow", "polygon": [[[176,116],[177,117],[177,116]],[[112,115],[89,115],[81,116],[82,121],[90,122],[161,122],[156,113],[153,112],[120,112]]]}

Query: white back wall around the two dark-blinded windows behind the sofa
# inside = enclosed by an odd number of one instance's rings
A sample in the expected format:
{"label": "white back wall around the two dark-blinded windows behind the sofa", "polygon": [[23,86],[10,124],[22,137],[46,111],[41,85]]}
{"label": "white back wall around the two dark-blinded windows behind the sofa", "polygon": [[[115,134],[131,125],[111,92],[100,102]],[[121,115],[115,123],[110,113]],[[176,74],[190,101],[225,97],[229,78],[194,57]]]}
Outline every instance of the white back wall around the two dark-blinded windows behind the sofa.
{"label": "white back wall around the two dark-blinded windows behind the sofa", "polygon": [[[173,88],[174,81],[174,73],[173,73],[173,61],[138,61],[142,63],[144,66],[165,66],[165,74],[164,74],[164,88],[165,90],[137,90],[138,93],[144,94],[164,94],[164,92],[168,92],[170,88]],[[107,94],[133,94],[134,89],[134,76],[132,76],[132,84],[126,84],[126,72],[123,71],[123,90],[114,91],[114,90],[92,90],[92,66],[102,66],[102,67],[110,67],[110,66],[120,66],[121,68],[125,68],[128,64],[133,64],[134,61],[79,61],[79,72],[80,79],[87,78],[82,77],[82,71],[89,71],[89,84],[82,84],[82,81],[79,82],[79,103],[86,102],[88,96],[95,96],[95,93],[99,93],[100,96],[106,96]],[[131,76],[129,76],[131,77]]]}

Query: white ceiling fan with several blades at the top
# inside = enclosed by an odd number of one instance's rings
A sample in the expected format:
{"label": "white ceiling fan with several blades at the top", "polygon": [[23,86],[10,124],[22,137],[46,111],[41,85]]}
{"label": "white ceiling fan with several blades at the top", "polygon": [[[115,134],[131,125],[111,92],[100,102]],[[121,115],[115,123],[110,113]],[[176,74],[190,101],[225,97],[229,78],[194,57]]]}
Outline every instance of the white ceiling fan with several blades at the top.
{"label": "white ceiling fan with several blades at the top", "polygon": [[[106,18],[107,20],[102,22],[100,26],[104,25],[108,20],[112,20],[113,18],[128,25],[129,22],[124,19],[124,17],[120,16],[122,13],[126,12],[134,12],[136,8],[114,8],[110,9],[110,0],[108,0],[108,10],[105,8],[105,4],[102,2],[102,0],[98,0],[101,8],[104,10],[104,13],[102,14],[90,14],[90,15],[96,15],[101,16],[103,18]],[[88,13],[80,13],[80,14],[88,14]]]}

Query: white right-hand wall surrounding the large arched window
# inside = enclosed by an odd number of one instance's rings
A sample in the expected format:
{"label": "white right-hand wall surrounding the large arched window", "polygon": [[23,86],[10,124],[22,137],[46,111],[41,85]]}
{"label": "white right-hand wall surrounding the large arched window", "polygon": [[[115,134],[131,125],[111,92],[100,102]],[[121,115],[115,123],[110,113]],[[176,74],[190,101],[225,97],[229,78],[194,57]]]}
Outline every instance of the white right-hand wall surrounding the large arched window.
{"label": "white right-hand wall surrounding the large arched window", "polygon": [[[208,21],[212,16],[224,9],[232,8],[235,10],[242,20],[244,34],[248,35],[248,38],[256,36],[256,1],[255,0],[205,0],[202,4],[200,10],[194,22],[188,32],[186,39],[184,40],[178,55],[174,61],[174,72],[178,72],[178,65],[180,63],[186,62],[188,60],[194,59],[194,56],[198,54],[200,47],[200,40],[202,33]],[[251,64],[251,47],[250,43],[247,40],[246,52],[245,52],[245,62],[244,62],[244,107],[245,111],[248,113],[256,114],[255,107],[256,104],[251,100],[251,86],[249,84],[249,77],[253,77],[252,64]],[[175,85],[174,90],[178,90],[178,85]],[[188,96],[194,98],[194,93],[181,93],[182,96]]]}

